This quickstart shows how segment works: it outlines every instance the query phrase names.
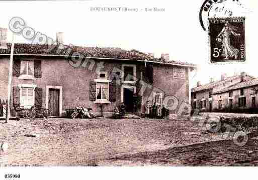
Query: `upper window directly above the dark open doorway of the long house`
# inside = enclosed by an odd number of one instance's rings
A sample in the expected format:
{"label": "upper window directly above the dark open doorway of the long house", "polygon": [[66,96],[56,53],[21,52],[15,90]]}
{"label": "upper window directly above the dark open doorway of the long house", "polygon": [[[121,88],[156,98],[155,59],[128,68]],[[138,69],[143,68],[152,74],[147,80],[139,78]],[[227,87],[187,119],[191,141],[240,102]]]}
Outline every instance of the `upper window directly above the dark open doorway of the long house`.
{"label": "upper window directly above the dark open doorway of the long house", "polygon": [[124,81],[124,83],[136,82],[136,65],[122,64],[122,80]]}

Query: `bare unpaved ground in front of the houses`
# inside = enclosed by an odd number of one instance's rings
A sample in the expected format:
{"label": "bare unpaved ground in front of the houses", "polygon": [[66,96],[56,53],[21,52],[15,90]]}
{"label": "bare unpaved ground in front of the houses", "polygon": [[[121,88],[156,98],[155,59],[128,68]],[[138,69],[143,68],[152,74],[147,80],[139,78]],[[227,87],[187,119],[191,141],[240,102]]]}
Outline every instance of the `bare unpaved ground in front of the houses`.
{"label": "bare unpaved ground in front of the houses", "polygon": [[[231,151],[224,145],[232,151],[237,148],[232,146],[232,140],[217,141],[223,138],[207,133],[205,127],[180,120],[22,119],[0,123],[0,133],[0,142],[9,143],[8,151],[0,152],[1,165],[220,164],[249,149],[246,146],[243,151],[232,152],[235,156],[228,156]],[[209,143],[199,144],[204,142]],[[218,162],[212,157],[210,162],[211,154],[223,156]],[[207,163],[200,158],[208,159]]]}

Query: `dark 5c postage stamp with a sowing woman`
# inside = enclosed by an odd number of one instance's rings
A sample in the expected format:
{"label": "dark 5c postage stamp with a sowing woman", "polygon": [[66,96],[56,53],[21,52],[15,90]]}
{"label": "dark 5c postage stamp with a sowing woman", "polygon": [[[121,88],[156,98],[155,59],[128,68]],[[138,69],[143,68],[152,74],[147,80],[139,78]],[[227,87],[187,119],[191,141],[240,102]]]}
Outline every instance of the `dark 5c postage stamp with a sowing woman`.
{"label": "dark 5c postage stamp with a sowing woman", "polygon": [[244,17],[209,18],[210,63],[244,62]]}

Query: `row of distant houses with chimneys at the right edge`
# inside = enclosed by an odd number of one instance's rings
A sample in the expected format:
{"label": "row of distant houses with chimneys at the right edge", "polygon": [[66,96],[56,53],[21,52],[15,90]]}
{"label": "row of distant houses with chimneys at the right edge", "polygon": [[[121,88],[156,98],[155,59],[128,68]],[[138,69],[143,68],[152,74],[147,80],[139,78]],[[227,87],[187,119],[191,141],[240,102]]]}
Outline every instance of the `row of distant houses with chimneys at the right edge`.
{"label": "row of distant houses with chimneys at the right edge", "polygon": [[258,79],[242,72],[240,75],[227,77],[221,75],[221,80],[202,85],[191,90],[193,109],[205,112],[220,110],[244,110],[257,108]]}

